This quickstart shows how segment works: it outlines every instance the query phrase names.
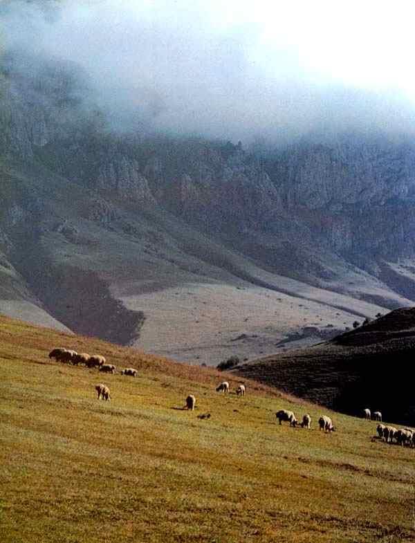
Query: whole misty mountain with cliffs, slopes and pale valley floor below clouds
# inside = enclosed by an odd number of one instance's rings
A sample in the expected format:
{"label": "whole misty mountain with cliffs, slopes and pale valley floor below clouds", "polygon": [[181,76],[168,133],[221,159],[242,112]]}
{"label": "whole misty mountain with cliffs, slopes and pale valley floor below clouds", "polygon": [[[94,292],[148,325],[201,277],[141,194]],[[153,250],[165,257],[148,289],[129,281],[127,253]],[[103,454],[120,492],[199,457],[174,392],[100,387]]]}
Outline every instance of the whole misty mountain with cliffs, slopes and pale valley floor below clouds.
{"label": "whole misty mountain with cliffs, slopes and pale valley floor below clouds", "polygon": [[18,56],[0,78],[3,313],[217,364],[414,303],[412,141],[115,133],[77,66]]}

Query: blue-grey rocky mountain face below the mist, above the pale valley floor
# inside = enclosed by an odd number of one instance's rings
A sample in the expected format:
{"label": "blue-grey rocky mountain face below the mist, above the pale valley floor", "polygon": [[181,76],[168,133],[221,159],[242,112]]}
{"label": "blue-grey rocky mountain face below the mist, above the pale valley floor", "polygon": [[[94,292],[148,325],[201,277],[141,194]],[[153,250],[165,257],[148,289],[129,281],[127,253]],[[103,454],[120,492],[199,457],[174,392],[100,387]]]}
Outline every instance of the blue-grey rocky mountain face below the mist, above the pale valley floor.
{"label": "blue-grey rocky mountain face below the mist, above the pale valley floor", "polygon": [[[277,290],[284,275],[300,290],[389,309],[415,300],[412,141],[348,136],[254,154],[230,142],[115,134],[87,103],[76,66],[37,59],[34,71],[33,62],[9,55],[0,79],[0,250],[50,311],[65,266],[84,284],[98,273],[106,295],[120,278],[141,291],[216,280]],[[70,298],[76,282],[64,284]],[[88,331],[71,315],[78,325]]]}

